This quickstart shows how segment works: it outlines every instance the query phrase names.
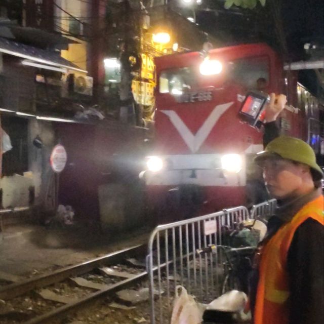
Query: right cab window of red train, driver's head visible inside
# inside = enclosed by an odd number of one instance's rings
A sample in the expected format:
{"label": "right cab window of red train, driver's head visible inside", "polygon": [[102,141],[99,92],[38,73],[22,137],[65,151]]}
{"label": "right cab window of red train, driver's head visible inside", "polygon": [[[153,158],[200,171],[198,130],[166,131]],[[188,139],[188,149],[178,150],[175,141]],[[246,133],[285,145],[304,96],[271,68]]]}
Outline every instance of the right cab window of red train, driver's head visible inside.
{"label": "right cab window of red train, driver's head visible inside", "polygon": [[[228,77],[230,81],[249,90],[265,90],[269,85],[269,59],[267,56],[246,57],[228,63]],[[259,89],[262,80],[264,89]]]}

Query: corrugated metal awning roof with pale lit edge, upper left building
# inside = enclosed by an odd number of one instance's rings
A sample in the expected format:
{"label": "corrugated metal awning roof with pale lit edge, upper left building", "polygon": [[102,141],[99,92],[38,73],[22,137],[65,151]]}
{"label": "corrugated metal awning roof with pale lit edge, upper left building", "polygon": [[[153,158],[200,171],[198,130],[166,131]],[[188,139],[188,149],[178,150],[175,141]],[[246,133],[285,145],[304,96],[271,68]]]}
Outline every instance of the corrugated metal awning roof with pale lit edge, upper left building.
{"label": "corrugated metal awning roof with pale lit edge, upper left building", "polygon": [[64,67],[70,70],[87,73],[87,71],[80,69],[75,64],[62,58],[58,52],[38,49],[33,46],[17,43],[3,37],[0,37],[0,52],[18,56],[38,63]]}

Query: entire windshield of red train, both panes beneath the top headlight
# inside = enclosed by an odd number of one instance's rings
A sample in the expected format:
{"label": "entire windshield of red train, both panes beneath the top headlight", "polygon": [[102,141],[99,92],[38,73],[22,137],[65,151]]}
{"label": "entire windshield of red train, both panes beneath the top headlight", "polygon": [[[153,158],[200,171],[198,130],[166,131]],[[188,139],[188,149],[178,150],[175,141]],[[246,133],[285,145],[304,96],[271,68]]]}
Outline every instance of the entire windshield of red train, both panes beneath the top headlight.
{"label": "entire windshield of red train, both panes beneath the top headlight", "polygon": [[207,77],[200,75],[199,69],[193,66],[167,69],[159,75],[159,93],[182,95],[231,82],[247,90],[265,90],[269,84],[268,57],[247,57],[226,62],[220,74]]}

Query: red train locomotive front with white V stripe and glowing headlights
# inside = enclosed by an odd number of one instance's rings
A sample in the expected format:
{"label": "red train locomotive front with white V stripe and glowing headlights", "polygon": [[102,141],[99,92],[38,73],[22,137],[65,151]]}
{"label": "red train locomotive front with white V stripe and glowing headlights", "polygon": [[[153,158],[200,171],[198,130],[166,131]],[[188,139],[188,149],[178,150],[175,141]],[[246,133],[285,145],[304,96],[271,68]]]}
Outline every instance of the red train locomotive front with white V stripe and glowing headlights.
{"label": "red train locomotive front with white V stripe and glowing headlights", "polygon": [[[217,74],[199,72],[204,58],[198,52],[155,59],[151,155],[161,164],[158,170],[146,170],[144,177],[149,205],[163,222],[246,204],[248,170],[253,155],[262,149],[262,131],[242,123],[238,110],[246,92],[256,90],[258,78],[265,79],[264,92],[288,95],[287,109],[279,118],[281,132],[309,137],[309,113],[296,108],[301,101],[297,74],[284,71],[270,47],[232,46],[211,50],[208,56],[220,62]],[[223,157],[237,158],[241,170],[227,172]]]}

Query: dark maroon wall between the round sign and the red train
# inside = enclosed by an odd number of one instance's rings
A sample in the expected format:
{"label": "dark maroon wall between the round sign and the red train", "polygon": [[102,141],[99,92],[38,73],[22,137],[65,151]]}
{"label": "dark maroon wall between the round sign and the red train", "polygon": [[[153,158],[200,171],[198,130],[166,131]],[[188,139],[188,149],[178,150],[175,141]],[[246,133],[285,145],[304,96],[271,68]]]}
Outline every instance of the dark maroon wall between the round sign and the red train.
{"label": "dark maroon wall between the round sign and the red train", "polygon": [[144,217],[144,187],[138,177],[146,130],[118,123],[57,124],[67,152],[59,202],[75,219],[101,222],[103,230],[137,226]]}

